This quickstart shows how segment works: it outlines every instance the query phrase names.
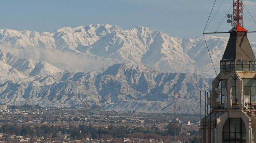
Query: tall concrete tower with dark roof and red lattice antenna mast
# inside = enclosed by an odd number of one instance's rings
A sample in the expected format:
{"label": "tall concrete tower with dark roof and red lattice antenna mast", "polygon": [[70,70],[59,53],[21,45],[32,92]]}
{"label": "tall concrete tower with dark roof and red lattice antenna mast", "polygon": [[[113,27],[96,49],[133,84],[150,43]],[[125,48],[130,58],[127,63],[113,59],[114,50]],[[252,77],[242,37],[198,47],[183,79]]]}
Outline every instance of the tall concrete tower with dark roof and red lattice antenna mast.
{"label": "tall concrete tower with dark roof and red lattice antenna mast", "polygon": [[243,28],[242,0],[233,0],[231,18],[221,72],[212,82],[211,112],[201,119],[201,143],[254,143],[256,138],[256,59]]}

